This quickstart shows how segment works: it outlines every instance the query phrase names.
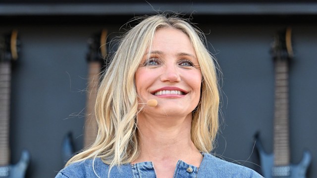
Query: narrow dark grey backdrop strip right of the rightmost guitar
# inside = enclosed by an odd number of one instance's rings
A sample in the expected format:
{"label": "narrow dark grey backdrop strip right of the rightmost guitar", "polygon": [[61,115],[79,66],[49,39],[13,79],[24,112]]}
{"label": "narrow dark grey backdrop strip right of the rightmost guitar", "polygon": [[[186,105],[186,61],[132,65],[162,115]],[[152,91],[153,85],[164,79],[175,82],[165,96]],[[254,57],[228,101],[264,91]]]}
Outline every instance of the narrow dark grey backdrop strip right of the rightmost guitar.
{"label": "narrow dark grey backdrop strip right of the rightmost guitar", "polygon": [[317,25],[294,26],[295,58],[290,65],[290,135],[293,163],[299,163],[303,150],[312,153],[310,178],[317,175]]}

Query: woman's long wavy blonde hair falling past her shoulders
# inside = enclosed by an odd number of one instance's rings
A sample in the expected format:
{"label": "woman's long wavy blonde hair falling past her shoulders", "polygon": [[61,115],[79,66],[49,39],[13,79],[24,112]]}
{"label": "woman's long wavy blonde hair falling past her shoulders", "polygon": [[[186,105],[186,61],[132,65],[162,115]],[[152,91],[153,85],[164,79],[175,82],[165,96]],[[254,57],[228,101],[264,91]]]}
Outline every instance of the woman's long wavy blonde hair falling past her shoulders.
{"label": "woman's long wavy blonde hair falling past her shoulders", "polygon": [[198,150],[211,152],[218,131],[216,63],[207,49],[205,35],[198,28],[177,16],[159,14],[145,18],[123,37],[98,90],[96,141],[73,156],[66,166],[98,157],[112,168],[137,159],[140,152],[136,124],[139,109],[134,75],[160,28],[184,32],[196,51],[203,81],[201,99],[193,111],[191,138]]}

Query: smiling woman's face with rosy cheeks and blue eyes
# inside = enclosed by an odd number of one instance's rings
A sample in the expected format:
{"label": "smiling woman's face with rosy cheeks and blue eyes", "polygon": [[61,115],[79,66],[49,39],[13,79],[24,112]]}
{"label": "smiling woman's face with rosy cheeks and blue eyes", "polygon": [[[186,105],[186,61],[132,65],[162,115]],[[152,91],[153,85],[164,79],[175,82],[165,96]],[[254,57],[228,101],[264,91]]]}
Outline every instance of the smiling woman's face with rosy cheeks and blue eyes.
{"label": "smiling woman's face with rosy cheeks and blue eyes", "polygon": [[173,28],[157,30],[136,71],[135,83],[140,103],[156,99],[158,105],[145,106],[140,114],[191,114],[200,100],[201,82],[200,66],[188,36]]}

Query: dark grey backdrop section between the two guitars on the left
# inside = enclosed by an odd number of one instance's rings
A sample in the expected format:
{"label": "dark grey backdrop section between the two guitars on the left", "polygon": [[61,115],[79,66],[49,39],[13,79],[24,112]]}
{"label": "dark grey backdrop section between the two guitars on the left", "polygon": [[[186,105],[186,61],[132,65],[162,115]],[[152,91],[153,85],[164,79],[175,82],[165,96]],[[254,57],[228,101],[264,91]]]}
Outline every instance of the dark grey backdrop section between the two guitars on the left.
{"label": "dark grey backdrop section between the two guitars on the left", "polygon": [[13,69],[12,161],[31,153],[28,177],[54,177],[63,164],[61,141],[71,131],[82,148],[87,39],[82,26],[19,27],[21,56]]}

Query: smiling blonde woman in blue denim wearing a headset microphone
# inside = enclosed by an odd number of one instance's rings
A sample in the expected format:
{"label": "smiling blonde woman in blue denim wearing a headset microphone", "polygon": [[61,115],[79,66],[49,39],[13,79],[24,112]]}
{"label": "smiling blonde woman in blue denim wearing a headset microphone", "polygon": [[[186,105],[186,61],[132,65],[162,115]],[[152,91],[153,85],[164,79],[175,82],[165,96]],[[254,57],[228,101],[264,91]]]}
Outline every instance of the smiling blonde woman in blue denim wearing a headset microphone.
{"label": "smiling blonde woman in blue denim wearing a headset microphone", "polygon": [[[56,178],[262,178],[209,154],[219,92],[204,42],[199,30],[167,15],[128,31],[98,91],[97,139]],[[147,105],[151,99],[158,105]]]}

